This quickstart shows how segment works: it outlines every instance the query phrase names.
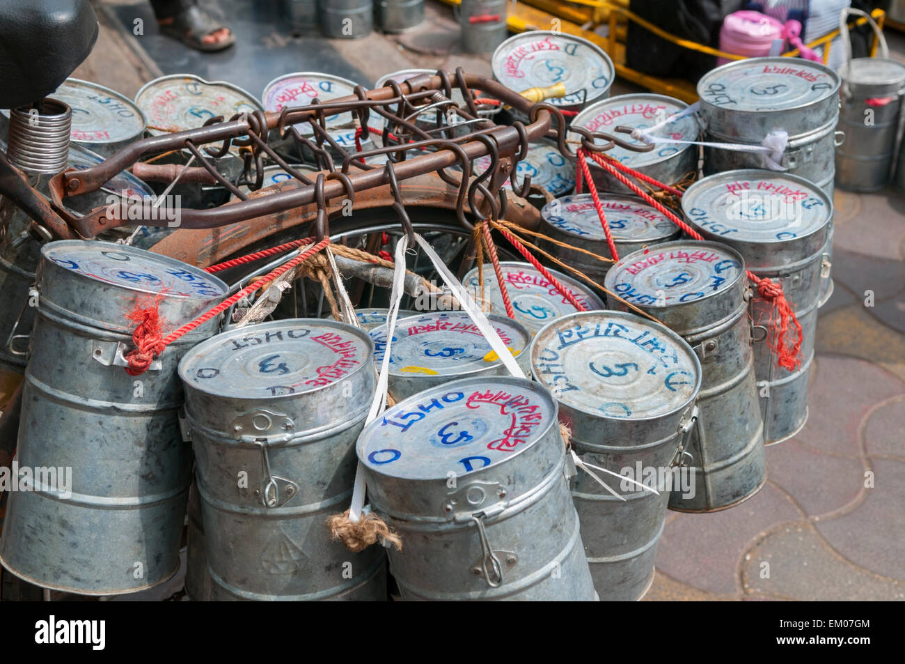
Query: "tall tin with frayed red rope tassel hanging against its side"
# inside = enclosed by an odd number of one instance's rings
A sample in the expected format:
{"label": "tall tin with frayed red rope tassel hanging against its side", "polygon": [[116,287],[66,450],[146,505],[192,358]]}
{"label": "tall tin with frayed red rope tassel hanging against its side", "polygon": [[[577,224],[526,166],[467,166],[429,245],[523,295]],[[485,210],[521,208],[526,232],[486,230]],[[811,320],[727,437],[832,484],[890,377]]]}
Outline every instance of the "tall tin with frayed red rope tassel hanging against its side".
{"label": "tall tin with frayed red rope tassel hanging against its side", "polygon": [[804,339],[801,366],[776,365],[767,342],[770,305],[748,303],[755,323],[754,373],[767,445],[795,435],[807,419],[807,386],[814,360],[824,251],[833,227],[833,202],[804,178],[766,170],[734,170],[691,185],[682,197],[688,223],[725,243],[748,270],[782,285]]}

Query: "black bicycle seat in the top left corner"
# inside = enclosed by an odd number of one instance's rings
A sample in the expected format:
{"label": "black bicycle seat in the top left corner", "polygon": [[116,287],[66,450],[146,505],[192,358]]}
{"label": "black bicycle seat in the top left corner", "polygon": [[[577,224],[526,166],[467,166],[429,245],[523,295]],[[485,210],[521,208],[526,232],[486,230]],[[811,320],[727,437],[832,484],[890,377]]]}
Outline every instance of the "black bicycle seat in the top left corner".
{"label": "black bicycle seat in the top left corner", "polygon": [[98,19],[88,0],[0,2],[0,109],[42,100],[88,57]]}

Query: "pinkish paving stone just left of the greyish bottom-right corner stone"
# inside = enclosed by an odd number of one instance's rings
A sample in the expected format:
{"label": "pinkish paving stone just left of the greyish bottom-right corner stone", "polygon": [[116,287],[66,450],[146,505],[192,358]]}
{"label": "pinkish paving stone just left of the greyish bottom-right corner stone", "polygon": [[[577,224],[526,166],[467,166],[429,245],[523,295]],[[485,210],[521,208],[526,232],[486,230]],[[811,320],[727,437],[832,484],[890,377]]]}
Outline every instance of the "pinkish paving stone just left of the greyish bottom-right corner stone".
{"label": "pinkish paving stone just left of the greyish bottom-right corner stone", "polygon": [[740,505],[711,514],[682,514],[667,524],[657,550],[657,569],[700,590],[737,593],[738,562],[748,543],[771,526],[800,516],[767,482]]}

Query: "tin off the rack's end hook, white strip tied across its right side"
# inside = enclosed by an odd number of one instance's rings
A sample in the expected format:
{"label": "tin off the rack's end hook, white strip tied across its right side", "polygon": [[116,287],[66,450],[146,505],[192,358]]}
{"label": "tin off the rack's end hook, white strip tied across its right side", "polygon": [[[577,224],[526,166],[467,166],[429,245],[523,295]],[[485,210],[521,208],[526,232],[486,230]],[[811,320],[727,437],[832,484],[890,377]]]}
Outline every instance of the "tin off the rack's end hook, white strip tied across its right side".
{"label": "tin off the rack's end hook, white strip tied across its right side", "polygon": [[[639,92],[621,94],[604,101],[597,101],[588,106],[572,120],[573,127],[583,127],[588,131],[604,131],[614,134],[617,126],[646,130],[660,125],[661,122],[688,108],[684,101],[666,97],[662,94]],[[653,132],[653,136],[667,137],[674,140],[698,140],[700,123],[693,113],[664,124]],[[643,145],[640,140],[620,135],[633,145]],[[603,144],[604,140],[595,139],[595,143]],[[607,157],[618,159],[620,163],[635,170],[674,185],[698,168],[698,149],[694,145],[662,143],[654,145],[649,152],[635,152],[619,146],[606,151]],[[598,191],[631,193],[625,185],[600,168],[594,161],[588,161],[591,177]]]}

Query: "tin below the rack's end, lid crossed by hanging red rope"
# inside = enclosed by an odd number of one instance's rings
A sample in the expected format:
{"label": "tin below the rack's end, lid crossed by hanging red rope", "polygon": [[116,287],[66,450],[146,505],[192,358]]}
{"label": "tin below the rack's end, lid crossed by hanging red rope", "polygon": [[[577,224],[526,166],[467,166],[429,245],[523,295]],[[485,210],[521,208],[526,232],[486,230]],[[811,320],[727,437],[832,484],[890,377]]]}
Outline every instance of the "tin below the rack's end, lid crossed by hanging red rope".
{"label": "tin below the rack's end, lid crossed by hanging red rope", "polygon": [[[678,239],[681,235],[679,226],[638,197],[606,194],[600,198],[600,203],[620,256],[632,254],[645,246]],[[604,227],[600,224],[594,198],[590,194],[557,198],[544,206],[540,216],[545,222],[543,231],[546,235],[596,255],[611,257]],[[540,246],[601,283],[612,265],[546,240],[542,240]]]}

